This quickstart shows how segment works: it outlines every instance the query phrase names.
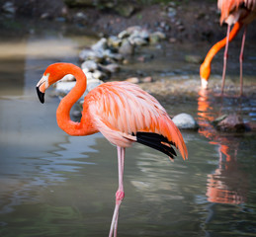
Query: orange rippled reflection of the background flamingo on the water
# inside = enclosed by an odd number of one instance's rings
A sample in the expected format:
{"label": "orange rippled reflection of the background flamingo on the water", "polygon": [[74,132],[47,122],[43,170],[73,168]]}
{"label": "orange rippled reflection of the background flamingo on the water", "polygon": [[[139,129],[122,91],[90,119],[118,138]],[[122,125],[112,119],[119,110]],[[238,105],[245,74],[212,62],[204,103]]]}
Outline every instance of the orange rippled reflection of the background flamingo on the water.
{"label": "orange rippled reflection of the background flamingo on the water", "polygon": [[218,167],[208,175],[207,197],[211,202],[239,204],[246,201],[248,183],[236,158],[240,142],[234,136],[223,135],[214,129],[213,103],[213,95],[202,89],[198,98],[199,133],[217,146],[218,154]]}

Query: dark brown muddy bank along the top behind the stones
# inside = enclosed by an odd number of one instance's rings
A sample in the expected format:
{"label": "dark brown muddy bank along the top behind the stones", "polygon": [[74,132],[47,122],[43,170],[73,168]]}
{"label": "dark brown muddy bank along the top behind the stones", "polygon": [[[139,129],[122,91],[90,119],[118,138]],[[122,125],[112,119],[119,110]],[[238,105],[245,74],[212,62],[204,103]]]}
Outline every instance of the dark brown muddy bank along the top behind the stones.
{"label": "dark brown muddy bank along the top behind the stones", "polygon": [[[79,5],[80,2],[90,4]],[[163,32],[171,42],[213,42],[225,35],[226,28],[219,27],[215,1],[163,2],[99,1],[96,4],[94,1],[1,0],[0,31],[22,35],[30,32],[31,25],[40,20],[46,26],[52,21],[62,26],[70,24],[73,31],[82,34],[89,29],[100,36],[117,35],[130,26],[141,26]],[[255,27],[256,24],[252,23],[249,29]],[[248,30],[247,40],[255,37],[256,32]]]}

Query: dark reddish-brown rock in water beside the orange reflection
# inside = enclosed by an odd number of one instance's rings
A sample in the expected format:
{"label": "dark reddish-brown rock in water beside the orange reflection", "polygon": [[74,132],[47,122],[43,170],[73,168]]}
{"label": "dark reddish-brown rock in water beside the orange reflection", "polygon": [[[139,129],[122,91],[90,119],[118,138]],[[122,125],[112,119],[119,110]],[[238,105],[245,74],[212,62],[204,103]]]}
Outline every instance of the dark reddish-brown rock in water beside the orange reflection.
{"label": "dark reddish-brown rock in water beside the orange reflection", "polygon": [[220,131],[241,132],[250,130],[249,125],[244,123],[243,119],[235,114],[221,117],[221,119],[216,118],[215,120],[217,120],[215,127]]}

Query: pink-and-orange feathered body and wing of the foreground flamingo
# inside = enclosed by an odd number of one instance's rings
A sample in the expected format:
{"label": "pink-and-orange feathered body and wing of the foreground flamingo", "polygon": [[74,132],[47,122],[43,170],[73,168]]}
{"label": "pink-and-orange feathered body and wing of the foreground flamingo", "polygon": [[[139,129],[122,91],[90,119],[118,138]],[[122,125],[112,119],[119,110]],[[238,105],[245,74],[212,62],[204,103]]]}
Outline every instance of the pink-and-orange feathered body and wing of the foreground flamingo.
{"label": "pink-and-orange feathered body and wing of the foreground flamingo", "polygon": [[156,139],[150,134],[156,133],[158,138],[162,137],[158,139],[158,150],[168,143],[165,150],[171,150],[170,145],[175,145],[182,156],[187,157],[179,129],[156,99],[138,86],[128,82],[111,82],[92,92],[87,102],[91,118],[110,142],[128,147],[134,141],[145,144],[147,140],[150,146]]}

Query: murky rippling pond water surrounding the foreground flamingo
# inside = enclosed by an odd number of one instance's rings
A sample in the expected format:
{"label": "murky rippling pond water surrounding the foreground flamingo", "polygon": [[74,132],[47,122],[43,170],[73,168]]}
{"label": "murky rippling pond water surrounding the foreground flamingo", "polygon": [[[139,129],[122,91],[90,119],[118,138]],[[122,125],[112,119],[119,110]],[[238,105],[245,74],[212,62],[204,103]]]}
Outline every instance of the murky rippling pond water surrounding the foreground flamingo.
{"label": "murky rippling pond water surrounding the foreground flamingo", "polygon": [[[42,105],[35,90],[48,64],[76,63],[81,46],[94,40],[43,33],[0,42],[2,237],[108,235],[118,187],[116,148],[99,133],[64,133],[55,121],[59,99],[48,93]],[[184,67],[187,77],[196,70]],[[256,236],[256,136],[215,132],[209,121],[220,110],[256,119],[253,99],[222,101],[199,92],[197,100],[173,108],[201,124],[198,132],[182,131],[189,160],[170,162],[139,144],[127,149],[119,236]]]}

